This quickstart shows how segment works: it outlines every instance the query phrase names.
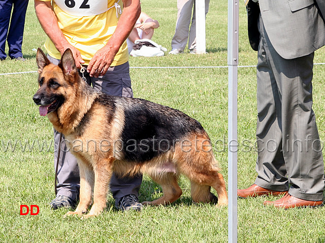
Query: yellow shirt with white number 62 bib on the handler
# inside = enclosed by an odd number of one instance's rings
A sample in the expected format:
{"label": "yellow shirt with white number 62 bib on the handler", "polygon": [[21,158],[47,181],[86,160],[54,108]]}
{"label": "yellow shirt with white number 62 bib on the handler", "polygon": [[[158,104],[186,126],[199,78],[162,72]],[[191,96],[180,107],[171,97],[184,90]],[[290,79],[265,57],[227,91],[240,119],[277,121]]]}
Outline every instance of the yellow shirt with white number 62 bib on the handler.
{"label": "yellow shirt with white number 62 bib on the handler", "polygon": [[[51,0],[41,1],[51,2]],[[119,0],[91,2],[96,3],[90,3],[87,0],[52,1],[52,8],[64,37],[80,51],[85,65],[89,64],[96,51],[106,45],[116,29],[122,11],[122,3]],[[51,57],[61,58],[60,52],[49,37],[44,47]],[[128,61],[128,52],[126,42],[124,42],[111,66],[121,65],[126,61]]]}

